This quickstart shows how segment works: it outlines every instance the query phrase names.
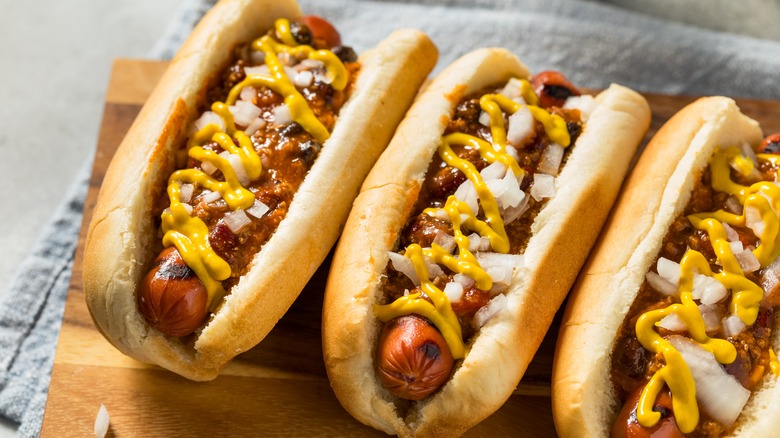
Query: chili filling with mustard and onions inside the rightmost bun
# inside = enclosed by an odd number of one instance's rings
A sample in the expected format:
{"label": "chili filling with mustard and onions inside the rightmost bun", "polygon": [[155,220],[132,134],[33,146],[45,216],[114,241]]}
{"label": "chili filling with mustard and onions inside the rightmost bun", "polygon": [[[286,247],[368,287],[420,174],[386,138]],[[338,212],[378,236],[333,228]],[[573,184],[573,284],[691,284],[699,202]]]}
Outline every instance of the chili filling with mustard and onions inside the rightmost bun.
{"label": "chili filling with mustard and onions inside the rightmost bun", "polygon": [[613,436],[722,436],[780,373],[778,139],[715,151],[672,222],[614,344]]}

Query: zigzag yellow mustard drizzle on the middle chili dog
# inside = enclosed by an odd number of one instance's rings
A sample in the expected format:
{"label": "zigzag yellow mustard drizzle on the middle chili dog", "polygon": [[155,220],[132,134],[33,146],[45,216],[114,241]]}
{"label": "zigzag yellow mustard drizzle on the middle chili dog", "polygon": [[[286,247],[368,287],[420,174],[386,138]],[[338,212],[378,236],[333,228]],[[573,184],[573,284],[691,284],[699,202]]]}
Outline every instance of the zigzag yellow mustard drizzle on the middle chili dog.
{"label": "zigzag yellow mustard drizzle on the middle chili dog", "polygon": [[511,170],[516,178],[523,178],[523,170],[506,151],[506,127],[504,126],[504,112],[511,115],[523,106],[527,106],[534,119],[542,124],[550,139],[562,146],[569,146],[571,143],[566,122],[560,116],[550,114],[536,106],[538,98],[527,80],[521,80],[521,92],[527,105],[517,103],[500,94],[486,94],[480,98],[480,107],[490,116],[492,143],[465,133],[452,133],[441,139],[438,148],[439,156],[445,163],[463,172],[474,185],[479,197],[479,205],[486,219],[484,221],[477,219],[478,212],[472,211],[465,202],[458,200],[454,195],[447,198],[443,207],[426,208],[423,211],[432,216],[438,216],[438,213],[442,211],[447,215],[452,223],[454,239],[458,248],[457,256],[435,244],[431,248],[422,248],[418,244],[412,244],[406,248],[405,256],[412,261],[415,273],[420,280],[420,288],[432,303],[425,300],[418,292],[400,297],[390,304],[374,305],[374,314],[383,322],[409,314],[418,314],[428,318],[444,336],[455,359],[461,359],[466,355],[466,345],[463,342],[458,317],[453,312],[447,295],[429,279],[425,259],[430,258],[435,263],[446,266],[452,272],[471,277],[477,288],[481,290],[490,290],[493,287],[493,280],[482,269],[474,254],[469,250],[469,238],[462,229],[474,231],[487,238],[490,241],[490,246],[496,252],[506,254],[509,252],[510,245],[495,196],[477,168],[468,160],[458,157],[452,150],[452,145],[471,146],[478,150],[480,156],[488,163],[500,162]]}

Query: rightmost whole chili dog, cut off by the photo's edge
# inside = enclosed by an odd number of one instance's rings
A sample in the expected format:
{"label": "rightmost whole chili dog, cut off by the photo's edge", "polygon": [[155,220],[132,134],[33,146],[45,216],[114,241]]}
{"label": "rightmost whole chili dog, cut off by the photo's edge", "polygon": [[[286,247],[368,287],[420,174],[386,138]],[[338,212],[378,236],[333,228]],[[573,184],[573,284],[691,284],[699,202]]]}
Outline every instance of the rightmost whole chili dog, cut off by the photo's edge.
{"label": "rightmost whole chili dog, cut off by the photo's edge", "polygon": [[776,434],[778,152],[724,97],[658,131],[564,315],[560,436]]}

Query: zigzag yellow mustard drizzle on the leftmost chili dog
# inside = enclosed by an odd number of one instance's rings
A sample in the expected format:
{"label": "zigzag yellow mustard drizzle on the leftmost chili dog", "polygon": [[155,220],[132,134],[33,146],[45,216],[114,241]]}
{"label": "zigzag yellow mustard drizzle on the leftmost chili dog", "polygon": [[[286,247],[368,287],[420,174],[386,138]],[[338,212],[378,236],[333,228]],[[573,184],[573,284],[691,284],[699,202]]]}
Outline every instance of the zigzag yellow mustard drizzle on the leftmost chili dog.
{"label": "zigzag yellow mustard drizzle on the leftmost chili dog", "polygon": [[[236,84],[228,94],[225,102],[215,102],[211,110],[222,118],[224,131],[217,124],[210,123],[193,134],[187,142],[187,154],[200,162],[210,163],[219,169],[224,181],[209,176],[199,169],[181,169],[175,171],[168,179],[168,198],[171,201],[169,209],[162,214],[163,245],[176,246],[184,262],[197,274],[208,293],[208,308],[215,311],[221,298],[225,295],[222,281],[230,277],[230,265],[220,258],[211,248],[208,240],[208,227],[197,217],[190,215],[189,210],[181,202],[181,184],[199,184],[205,189],[219,192],[222,199],[231,210],[246,209],[255,202],[255,196],[247,190],[230,162],[219,154],[204,149],[201,145],[214,141],[230,154],[237,155],[241,160],[249,180],[255,180],[262,173],[260,157],[254,149],[252,140],[242,130],[236,128],[229,105],[235,104],[241,90],[249,85],[266,86],[284,97],[284,103],[290,108],[292,120],[301,125],[318,142],[324,143],[330,133],[317,119],[306,99],[298,92],[295,85],[279,61],[278,53],[289,53],[297,58],[309,58],[322,61],[327,69],[331,85],[336,90],[343,90],[347,85],[347,70],[339,58],[328,50],[314,50],[309,46],[298,46],[290,32],[290,22],[281,18],[275,23],[276,34],[282,43],[265,35],[252,43],[253,50],[265,54],[266,65],[270,76],[247,75]],[[235,144],[234,140],[238,142]]]}

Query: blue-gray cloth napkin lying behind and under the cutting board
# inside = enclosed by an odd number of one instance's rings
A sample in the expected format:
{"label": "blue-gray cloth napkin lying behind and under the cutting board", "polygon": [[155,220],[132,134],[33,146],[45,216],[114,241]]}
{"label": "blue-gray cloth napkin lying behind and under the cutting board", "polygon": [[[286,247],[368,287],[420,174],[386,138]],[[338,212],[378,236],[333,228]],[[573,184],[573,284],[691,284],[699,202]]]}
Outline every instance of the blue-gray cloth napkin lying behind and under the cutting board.
{"label": "blue-gray cloth napkin lying behind and under the cutting board", "polygon": [[[170,58],[211,4],[213,0],[185,1],[151,57]],[[617,82],[658,93],[780,98],[780,43],[611,5],[581,0],[305,0],[301,6],[332,20],[343,40],[359,52],[393,29],[422,29],[439,47],[437,71],[469,50],[502,46],[520,55],[532,71],[559,69],[584,87]],[[0,303],[0,417],[21,423],[21,436],[40,432],[88,173],[85,167]]]}

